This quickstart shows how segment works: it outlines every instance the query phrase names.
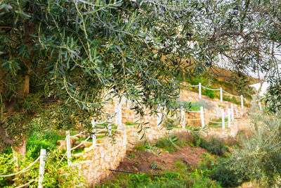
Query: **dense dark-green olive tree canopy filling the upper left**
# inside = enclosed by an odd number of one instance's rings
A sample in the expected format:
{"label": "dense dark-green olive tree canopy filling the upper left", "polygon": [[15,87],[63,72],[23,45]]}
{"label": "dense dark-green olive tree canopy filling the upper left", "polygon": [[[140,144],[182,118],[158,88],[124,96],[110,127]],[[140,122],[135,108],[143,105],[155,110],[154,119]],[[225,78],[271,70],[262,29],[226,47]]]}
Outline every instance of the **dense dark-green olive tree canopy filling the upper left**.
{"label": "dense dark-green olive tree canopy filling the upper left", "polygon": [[197,54],[189,42],[195,6],[1,0],[1,143],[24,143],[38,118],[65,129],[77,122],[89,127],[89,115],[103,117],[113,96],[132,101],[140,115],[143,105],[155,112],[158,104],[174,104],[177,78],[190,74],[181,58]]}

